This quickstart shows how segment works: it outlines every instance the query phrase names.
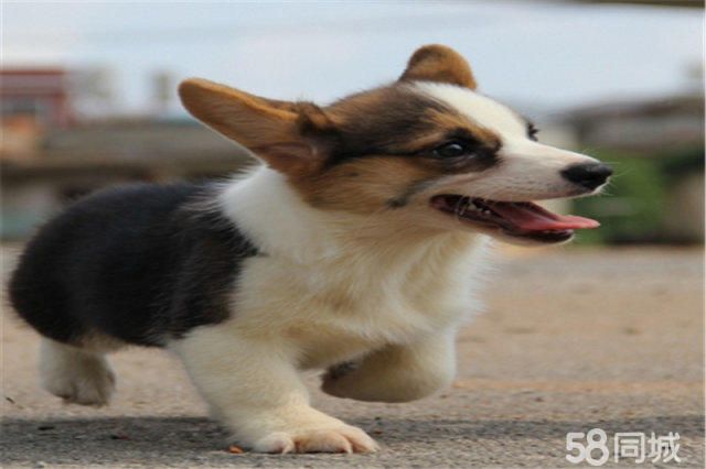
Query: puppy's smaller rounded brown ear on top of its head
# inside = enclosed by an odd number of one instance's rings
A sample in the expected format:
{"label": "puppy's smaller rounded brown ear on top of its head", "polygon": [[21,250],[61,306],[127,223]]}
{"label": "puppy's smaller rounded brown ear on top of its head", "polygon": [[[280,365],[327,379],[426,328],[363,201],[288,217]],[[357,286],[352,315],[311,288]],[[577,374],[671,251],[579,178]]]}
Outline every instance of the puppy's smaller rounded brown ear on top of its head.
{"label": "puppy's smaller rounded brown ear on top of its head", "polygon": [[470,89],[478,87],[466,58],[439,44],[425,45],[415,51],[399,79],[450,83]]}

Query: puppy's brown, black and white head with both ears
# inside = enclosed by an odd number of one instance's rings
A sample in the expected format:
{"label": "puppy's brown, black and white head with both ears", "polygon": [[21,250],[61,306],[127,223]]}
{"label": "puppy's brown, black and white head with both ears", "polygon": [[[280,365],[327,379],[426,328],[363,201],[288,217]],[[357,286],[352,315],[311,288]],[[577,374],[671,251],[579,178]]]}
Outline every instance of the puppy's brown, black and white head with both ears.
{"label": "puppy's brown, black and white head with both ears", "polygon": [[203,79],[179,91],[194,117],[284,173],[322,210],[515,242],[559,242],[598,226],[532,200],[592,194],[610,166],[537,142],[531,122],[475,88],[458,53],[428,45],[394,84],[327,107]]}

